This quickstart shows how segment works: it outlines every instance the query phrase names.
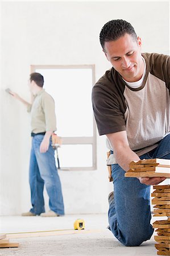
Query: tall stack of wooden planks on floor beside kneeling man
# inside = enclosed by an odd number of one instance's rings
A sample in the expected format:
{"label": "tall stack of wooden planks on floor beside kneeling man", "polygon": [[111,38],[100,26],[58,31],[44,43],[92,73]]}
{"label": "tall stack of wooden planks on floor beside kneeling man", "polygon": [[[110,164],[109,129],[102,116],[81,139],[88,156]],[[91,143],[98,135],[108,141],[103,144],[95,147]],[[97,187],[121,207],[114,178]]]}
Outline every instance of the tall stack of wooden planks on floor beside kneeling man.
{"label": "tall stack of wooden planks on floor beside kneeling man", "polygon": [[154,206],[154,216],[167,217],[167,220],[155,221],[157,236],[154,237],[157,255],[170,255],[170,185],[154,185],[151,194]]}

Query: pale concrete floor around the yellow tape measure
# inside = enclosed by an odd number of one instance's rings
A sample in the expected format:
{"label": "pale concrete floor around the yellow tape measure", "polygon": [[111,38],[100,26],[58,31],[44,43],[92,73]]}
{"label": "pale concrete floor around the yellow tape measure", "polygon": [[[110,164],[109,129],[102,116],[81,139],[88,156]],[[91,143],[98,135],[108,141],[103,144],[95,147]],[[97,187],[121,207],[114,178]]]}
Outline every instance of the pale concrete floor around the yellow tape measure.
{"label": "pale concrete floor around the yellow tape measure", "polygon": [[[85,230],[74,231],[73,223],[77,218],[85,221]],[[155,221],[156,218],[153,218]],[[156,249],[152,236],[150,241],[139,247],[125,247],[117,241],[107,227],[107,214],[66,215],[64,217],[1,217],[0,233],[23,233],[57,230],[55,236],[48,232],[45,237],[22,237],[20,234],[9,234],[10,242],[19,242],[17,248],[0,249],[4,256],[61,256],[61,255],[140,255],[154,256]],[[43,232],[41,233],[41,235]],[[47,234],[47,233],[45,233]],[[34,233],[30,233],[34,236]]]}

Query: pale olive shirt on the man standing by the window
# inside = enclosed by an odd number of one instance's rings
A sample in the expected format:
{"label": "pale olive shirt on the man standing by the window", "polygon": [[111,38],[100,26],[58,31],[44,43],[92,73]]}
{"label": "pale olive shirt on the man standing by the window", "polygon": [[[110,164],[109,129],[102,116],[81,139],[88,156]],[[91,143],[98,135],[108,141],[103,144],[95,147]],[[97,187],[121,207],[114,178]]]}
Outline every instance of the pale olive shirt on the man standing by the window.
{"label": "pale olive shirt on the man standing by the window", "polygon": [[56,131],[55,101],[44,89],[35,95],[27,111],[31,113],[32,133]]}

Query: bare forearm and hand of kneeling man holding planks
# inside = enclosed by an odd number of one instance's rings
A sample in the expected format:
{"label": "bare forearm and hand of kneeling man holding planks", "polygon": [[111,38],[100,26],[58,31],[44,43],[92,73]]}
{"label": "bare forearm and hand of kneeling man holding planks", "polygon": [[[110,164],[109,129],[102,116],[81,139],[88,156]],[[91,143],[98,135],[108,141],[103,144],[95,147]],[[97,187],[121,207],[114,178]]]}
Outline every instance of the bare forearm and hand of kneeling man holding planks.
{"label": "bare forearm and hand of kneeling man holding planks", "polygon": [[[113,147],[115,159],[117,160],[117,163],[119,164],[119,166],[122,167],[123,170],[128,171],[130,162],[140,160],[139,156],[134,151],[131,150],[128,144],[126,131],[118,131],[118,133],[106,134],[106,136]],[[157,185],[161,181],[165,180],[165,178],[143,177],[139,178],[139,180],[140,183],[146,185]]]}

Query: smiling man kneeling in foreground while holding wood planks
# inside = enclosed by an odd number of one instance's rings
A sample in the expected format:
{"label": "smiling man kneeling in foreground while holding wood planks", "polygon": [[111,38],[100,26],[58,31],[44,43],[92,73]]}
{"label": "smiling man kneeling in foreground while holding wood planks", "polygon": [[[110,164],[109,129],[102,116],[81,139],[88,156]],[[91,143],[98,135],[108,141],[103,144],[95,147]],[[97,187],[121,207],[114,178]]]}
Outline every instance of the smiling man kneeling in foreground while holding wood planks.
{"label": "smiling man kneeling in foreground while holding wood planks", "polygon": [[141,53],[142,41],[125,20],[107,22],[99,36],[113,66],[94,85],[92,102],[99,135],[106,135],[114,183],[109,197],[109,229],[126,246],[152,236],[150,185],[165,177],[125,172],[140,159],[170,159],[170,59]]}

